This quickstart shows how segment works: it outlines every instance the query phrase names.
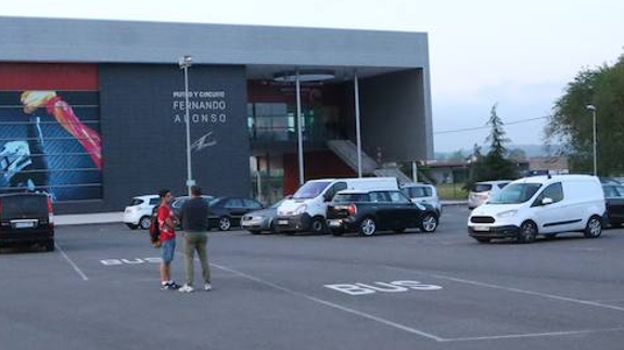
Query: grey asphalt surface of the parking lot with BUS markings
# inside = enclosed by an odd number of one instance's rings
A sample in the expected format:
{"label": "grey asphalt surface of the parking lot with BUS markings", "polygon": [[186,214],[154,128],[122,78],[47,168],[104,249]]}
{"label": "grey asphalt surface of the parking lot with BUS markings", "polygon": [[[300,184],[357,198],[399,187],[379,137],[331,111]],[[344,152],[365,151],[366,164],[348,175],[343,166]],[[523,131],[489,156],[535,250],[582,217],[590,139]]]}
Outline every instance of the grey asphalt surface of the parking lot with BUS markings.
{"label": "grey asphalt surface of the parking lot with BUS markings", "polygon": [[214,290],[192,294],[160,290],[147,232],[60,226],[54,252],[0,251],[0,348],[622,349],[624,230],[483,245],[467,218],[448,208],[434,234],[212,232]]}

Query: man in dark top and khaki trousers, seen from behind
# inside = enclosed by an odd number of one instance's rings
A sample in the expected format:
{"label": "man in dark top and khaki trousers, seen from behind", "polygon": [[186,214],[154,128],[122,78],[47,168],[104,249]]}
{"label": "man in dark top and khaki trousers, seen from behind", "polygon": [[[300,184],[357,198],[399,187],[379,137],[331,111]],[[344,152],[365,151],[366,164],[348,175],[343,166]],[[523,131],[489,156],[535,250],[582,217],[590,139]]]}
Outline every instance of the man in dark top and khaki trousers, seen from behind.
{"label": "man in dark top and khaki trousers, seen from behind", "polygon": [[204,290],[208,291],[212,289],[211,268],[208,267],[208,256],[206,252],[206,243],[208,241],[208,205],[202,198],[202,190],[200,187],[191,187],[191,198],[182,205],[180,221],[184,230],[184,270],[187,281],[178,290],[182,293],[191,293],[194,290],[193,258],[196,250],[202,264]]}

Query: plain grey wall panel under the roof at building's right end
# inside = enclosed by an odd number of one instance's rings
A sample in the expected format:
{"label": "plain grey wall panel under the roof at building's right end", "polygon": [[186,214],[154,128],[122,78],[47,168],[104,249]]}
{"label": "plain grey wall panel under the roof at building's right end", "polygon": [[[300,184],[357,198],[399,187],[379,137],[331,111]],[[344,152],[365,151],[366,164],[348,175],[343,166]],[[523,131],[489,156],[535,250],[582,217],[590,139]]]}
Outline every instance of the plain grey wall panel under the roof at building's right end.
{"label": "plain grey wall panel under the roof at building's right end", "polygon": [[428,159],[433,148],[422,69],[361,79],[359,87],[362,150],[377,159],[381,147],[383,161]]}

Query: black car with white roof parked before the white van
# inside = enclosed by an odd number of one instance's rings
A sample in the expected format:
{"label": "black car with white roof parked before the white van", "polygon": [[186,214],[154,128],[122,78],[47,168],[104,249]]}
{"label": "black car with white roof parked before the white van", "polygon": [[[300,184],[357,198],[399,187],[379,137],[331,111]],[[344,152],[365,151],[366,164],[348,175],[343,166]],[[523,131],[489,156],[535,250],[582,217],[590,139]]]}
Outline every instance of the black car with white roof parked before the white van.
{"label": "black car with white roof parked before the white van", "polygon": [[434,232],[438,222],[435,208],[412,203],[400,191],[342,191],[328,206],[327,218],[334,235],[372,236],[378,231],[410,228]]}

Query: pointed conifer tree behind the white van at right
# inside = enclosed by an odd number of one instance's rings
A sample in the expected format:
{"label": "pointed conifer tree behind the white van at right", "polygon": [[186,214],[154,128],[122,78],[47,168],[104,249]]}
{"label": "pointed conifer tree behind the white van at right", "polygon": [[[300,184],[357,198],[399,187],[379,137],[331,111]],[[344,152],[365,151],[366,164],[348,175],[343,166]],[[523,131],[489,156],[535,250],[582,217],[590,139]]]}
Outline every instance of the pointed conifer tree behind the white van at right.
{"label": "pointed conifer tree behind the white van at right", "polygon": [[482,155],[481,148],[474,145],[471,156],[470,179],[467,186],[479,181],[515,179],[518,167],[507,158],[508,151],[505,146],[509,139],[505,135],[504,124],[496,113],[496,104],[492,106],[487,126],[491,128],[485,142],[489,143],[489,151]]}

